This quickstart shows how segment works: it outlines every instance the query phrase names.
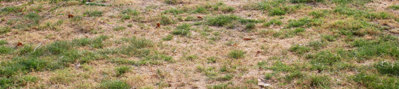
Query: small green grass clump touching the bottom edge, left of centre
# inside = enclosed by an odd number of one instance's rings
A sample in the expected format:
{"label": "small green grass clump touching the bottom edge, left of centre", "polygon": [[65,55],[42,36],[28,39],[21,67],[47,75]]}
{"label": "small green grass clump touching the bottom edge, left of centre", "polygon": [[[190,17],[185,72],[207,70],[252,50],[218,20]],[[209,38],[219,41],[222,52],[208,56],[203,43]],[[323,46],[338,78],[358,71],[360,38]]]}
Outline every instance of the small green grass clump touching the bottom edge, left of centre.
{"label": "small green grass clump touching the bottom edge, left of centre", "polygon": [[109,80],[101,83],[99,89],[130,89],[129,84],[121,80]]}

